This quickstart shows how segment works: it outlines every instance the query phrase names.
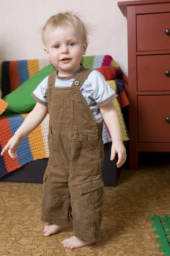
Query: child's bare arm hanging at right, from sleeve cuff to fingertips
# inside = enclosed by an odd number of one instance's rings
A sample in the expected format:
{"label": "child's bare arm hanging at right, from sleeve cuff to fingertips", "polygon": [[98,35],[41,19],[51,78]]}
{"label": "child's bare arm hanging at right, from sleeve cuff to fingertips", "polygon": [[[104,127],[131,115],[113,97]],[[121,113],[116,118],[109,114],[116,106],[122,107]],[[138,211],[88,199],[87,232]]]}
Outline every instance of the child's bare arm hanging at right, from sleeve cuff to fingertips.
{"label": "child's bare arm hanging at right, from sleeve cuff to fingertips", "polygon": [[121,167],[126,160],[126,149],[123,145],[122,129],[117,114],[116,108],[113,102],[100,107],[100,112],[105,120],[106,125],[111,134],[112,148],[111,148],[111,160],[114,159],[115,154],[118,153],[117,167]]}

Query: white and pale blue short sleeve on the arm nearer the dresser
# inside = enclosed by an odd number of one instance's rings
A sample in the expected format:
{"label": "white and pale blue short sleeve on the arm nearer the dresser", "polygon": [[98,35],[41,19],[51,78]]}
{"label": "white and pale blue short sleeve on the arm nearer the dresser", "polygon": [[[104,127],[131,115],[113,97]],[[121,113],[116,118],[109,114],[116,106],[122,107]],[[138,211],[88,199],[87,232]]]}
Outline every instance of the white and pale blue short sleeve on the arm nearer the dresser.
{"label": "white and pale blue short sleeve on the arm nearer the dresser", "polygon": [[115,91],[111,89],[109,84],[105,81],[104,76],[102,76],[99,71],[93,70],[87,80],[93,88],[93,99],[99,107],[106,105],[117,97]]}

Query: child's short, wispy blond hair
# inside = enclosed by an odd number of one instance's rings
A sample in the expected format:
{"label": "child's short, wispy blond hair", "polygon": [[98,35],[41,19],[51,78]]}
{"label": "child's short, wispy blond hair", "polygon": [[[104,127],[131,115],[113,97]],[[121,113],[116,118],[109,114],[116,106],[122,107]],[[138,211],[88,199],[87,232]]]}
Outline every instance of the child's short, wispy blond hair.
{"label": "child's short, wispy blond hair", "polygon": [[77,29],[82,35],[83,42],[88,42],[88,25],[84,24],[82,20],[80,20],[77,14],[73,14],[72,12],[59,12],[56,15],[51,16],[42,27],[42,42],[45,45],[45,33],[49,31],[53,31],[58,26],[64,28],[74,27]]}

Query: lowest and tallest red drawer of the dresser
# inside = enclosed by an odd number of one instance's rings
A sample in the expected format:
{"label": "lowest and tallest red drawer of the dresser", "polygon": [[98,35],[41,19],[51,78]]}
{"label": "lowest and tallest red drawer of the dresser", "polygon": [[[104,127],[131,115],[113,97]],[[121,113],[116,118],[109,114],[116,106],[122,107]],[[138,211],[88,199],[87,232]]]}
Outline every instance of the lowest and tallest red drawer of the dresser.
{"label": "lowest and tallest red drawer of the dresser", "polygon": [[138,140],[170,143],[170,95],[138,96]]}

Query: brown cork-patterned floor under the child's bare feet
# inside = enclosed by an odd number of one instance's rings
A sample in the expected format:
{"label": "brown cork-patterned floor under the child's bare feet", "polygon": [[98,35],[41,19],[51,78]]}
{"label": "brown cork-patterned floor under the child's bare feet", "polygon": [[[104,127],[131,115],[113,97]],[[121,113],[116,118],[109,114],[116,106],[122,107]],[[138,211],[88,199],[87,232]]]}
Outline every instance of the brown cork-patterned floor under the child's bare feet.
{"label": "brown cork-patterned floor under the child's bare feet", "polygon": [[[155,157],[155,160],[158,157]],[[170,159],[170,158],[169,158]],[[42,184],[0,183],[0,256],[161,256],[152,214],[170,216],[170,160],[138,172],[123,170],[118,185],[104,188],[104,212],[96,244],[65,249],[71,224],[45,237],[40,221]]]}

